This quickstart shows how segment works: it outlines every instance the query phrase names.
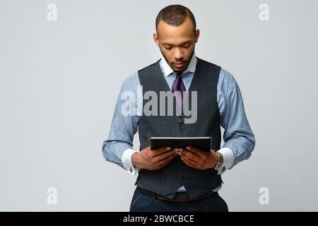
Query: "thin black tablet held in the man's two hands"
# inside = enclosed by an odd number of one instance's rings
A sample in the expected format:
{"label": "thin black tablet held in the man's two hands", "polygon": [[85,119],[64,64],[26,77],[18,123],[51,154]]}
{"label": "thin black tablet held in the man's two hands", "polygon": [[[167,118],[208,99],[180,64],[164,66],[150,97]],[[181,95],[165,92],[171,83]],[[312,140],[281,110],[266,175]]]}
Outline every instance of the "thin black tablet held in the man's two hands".
{"label": "thin black tablet held in the man's two hands", "polygon": [[185,148],[194,146],[203,151],[211,150],[211,136],[204,137],[151,137],[149,138],[151,150],[169,146],[171,148]]}

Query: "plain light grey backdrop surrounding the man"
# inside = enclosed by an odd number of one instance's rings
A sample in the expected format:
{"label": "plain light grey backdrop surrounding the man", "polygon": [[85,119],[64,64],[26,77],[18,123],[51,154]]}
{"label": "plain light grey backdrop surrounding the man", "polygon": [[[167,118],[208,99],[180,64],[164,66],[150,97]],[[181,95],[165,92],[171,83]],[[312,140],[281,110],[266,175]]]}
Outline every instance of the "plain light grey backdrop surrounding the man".
{"label": "plain light grey backdrop surrounding the man", "polygon": [[223,176],[229,209],[318,210],[315,0],[1,0],[0,210],[129,210],[136,177],[105,161],[102,142],[124,79],[160,57],[155,16],[176,3],[196,17],[196,55],[235,76],[257,138]]}

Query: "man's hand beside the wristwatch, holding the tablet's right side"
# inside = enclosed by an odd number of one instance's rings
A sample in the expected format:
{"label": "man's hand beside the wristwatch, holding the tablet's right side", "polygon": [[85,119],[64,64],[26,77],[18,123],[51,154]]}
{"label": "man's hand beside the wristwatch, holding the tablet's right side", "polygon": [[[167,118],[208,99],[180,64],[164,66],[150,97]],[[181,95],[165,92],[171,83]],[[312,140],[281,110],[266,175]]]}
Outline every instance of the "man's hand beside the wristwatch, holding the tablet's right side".
{"label": "man's hand beside the wristwatch, holding the tablet's right side", "polygon": [[187,146],[178,148],[177,154],[181,156],[181,160],[187,166],[194,169],[210,169],[216,167],[218,163],[218,156],[213,150],[204,152],[199,148]]}

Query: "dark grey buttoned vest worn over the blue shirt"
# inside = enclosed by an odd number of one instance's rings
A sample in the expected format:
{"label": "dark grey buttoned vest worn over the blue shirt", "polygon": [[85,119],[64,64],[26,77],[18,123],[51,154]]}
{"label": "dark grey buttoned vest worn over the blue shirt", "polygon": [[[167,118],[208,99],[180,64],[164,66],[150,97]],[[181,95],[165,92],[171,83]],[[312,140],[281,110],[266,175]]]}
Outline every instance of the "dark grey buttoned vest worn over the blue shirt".
{"label": "dark grey buttoned vest worn over the blue shirt", "polygon": [[[217,102],[217,85],[220,66],[197,58],[196,71],[189,87],[189,109],[191,91],[197,91],[197,120],[194,124],[184,124],[184,116],[141,116],[139,121],[140,150],[147,148],[151,136],[211,136],[211,149],[220,149],[220,113]],[[160,61],[160,60],[159,60]],[[159,61],[138,71],[143,85],[143,94],[148,90],[170,91],[165,81]],[[175,97],[174,97],[175,100]],[[149,100],[143,100],[143,106]],[[159,100],[158,100],[159,102]],[[167,110],[167,104],[165,109]],[[165,114],[167,115],[167,114]],[[194,169],[188,167],[177,155],[165,167],[158,170],[140,169],[136,184],[141,189],[172,198],[179,186],[184,186],[191,200],[215,189],[221,184],[220,175],[215,169]]]}

